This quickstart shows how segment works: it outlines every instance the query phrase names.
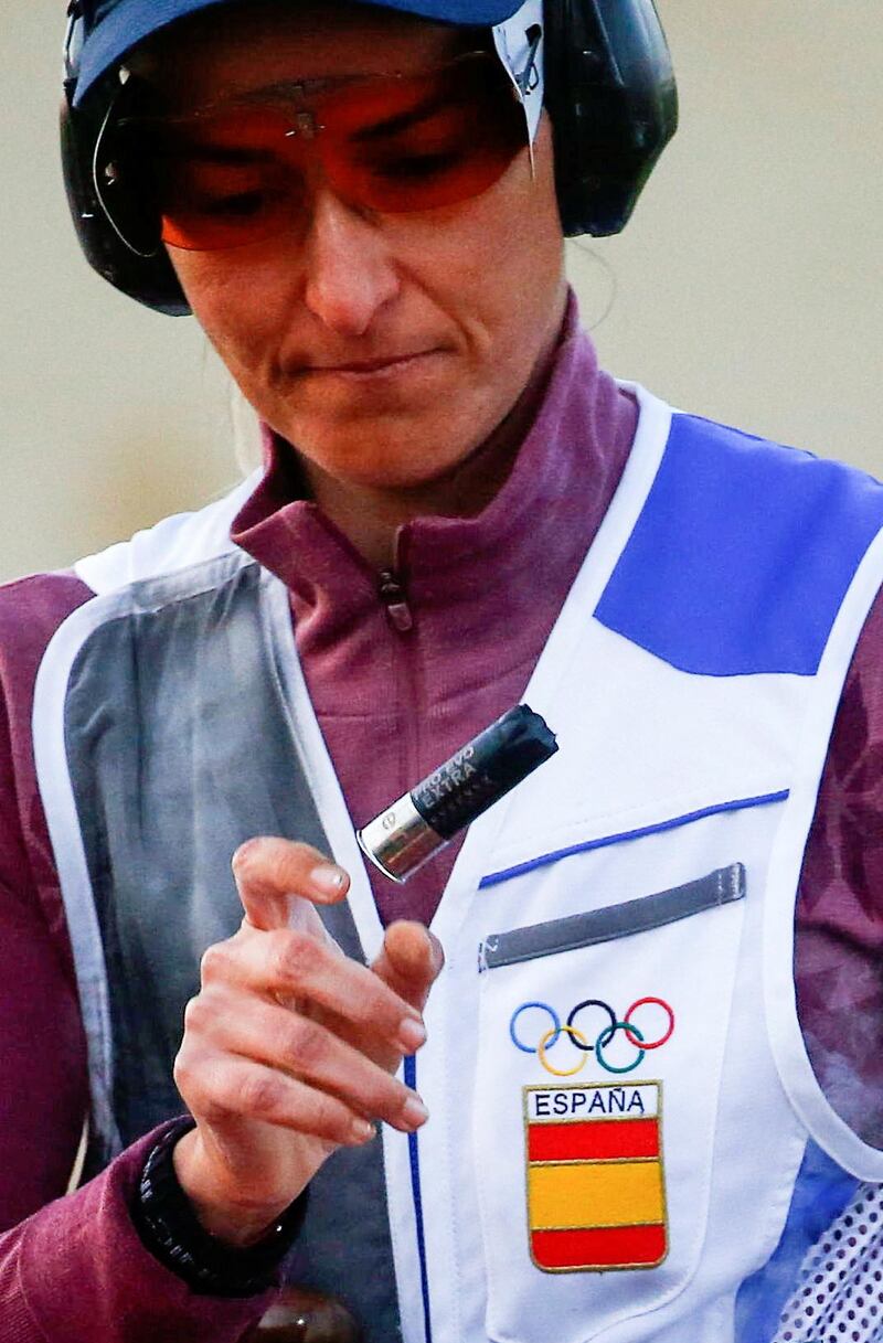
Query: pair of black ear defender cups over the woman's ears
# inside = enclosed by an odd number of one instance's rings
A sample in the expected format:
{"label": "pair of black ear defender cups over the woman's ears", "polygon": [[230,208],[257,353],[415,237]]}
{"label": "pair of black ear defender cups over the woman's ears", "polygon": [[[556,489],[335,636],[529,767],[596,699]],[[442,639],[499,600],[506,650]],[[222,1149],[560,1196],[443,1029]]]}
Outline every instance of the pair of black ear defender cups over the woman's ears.
{"label": "pair of black ear defender cups over the woman's ears", "polygon": [[[126,73],[113,70],[74,105],[85,17],[70,0],[60,136],[65,187],[89,265],[146,308],[190,313],[149,197],[114,197],[113,137]],[[653,0],[544,0],[544,105],[567,238],[618,234],[677,129],[672,60]]]}

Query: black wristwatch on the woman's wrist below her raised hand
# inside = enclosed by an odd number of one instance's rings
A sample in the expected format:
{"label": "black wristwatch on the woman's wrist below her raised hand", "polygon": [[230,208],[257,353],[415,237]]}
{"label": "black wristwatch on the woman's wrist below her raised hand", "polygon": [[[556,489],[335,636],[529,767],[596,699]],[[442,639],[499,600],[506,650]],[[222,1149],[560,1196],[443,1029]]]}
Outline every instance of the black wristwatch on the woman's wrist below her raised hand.
{"label": "black wristwatch on the woman's wrist below her raised hand", "polygon": [[203,1228],[175,1174],[175,1144],[195,1127],[191,1117],[179,1120],[151,1150],[132,1207],[136,1229],[151,1254],[198,1295],[257,1296],[278,1283],[304,1222],[306,1190],[255,1245],[227,1245]]}

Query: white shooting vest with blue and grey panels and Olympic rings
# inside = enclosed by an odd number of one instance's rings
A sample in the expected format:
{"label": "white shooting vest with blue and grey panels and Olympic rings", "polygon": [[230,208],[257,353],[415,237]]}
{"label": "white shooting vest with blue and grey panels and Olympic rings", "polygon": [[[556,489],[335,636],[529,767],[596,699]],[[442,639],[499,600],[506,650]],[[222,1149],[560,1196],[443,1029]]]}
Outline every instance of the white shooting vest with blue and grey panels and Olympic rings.
{"label": "white shooting vest with blue and grey panels and Olympic rings", "polygon": [[[446,968],[405,1068],[430,1121],[384,1129],[382,1167],[374,1144],[379,1193],[345,1241],[316,1233],[320,1268],[345,1260],[340,1295],[388,1279],[392,1305],[362,1303],[378,1343],[827,1343],[825,1311],[849,1338],[843,1284],[802,1315],[792,1299],[827,1229],[875,1199],[859,1182],[883,1180],[883,1154],[813,1076],[793,915],[883,579],[883,486],[637,395],[621,486],[524,693],[560,749],[470,827],[433,920]],[[324,842],[352,876],[332,932],[366,959],[382,941],[288,595],[227,540],[249,489],[83,561],[98,595],[38,680],[103,1159],[175,1112],[177,1018],[153,1074],[141,1021],[235,929],[222,873],[250,826]],[[360,1252],[367,1205],[383,1233]],[[872,1242],[876,1214],[861,1225]]]}

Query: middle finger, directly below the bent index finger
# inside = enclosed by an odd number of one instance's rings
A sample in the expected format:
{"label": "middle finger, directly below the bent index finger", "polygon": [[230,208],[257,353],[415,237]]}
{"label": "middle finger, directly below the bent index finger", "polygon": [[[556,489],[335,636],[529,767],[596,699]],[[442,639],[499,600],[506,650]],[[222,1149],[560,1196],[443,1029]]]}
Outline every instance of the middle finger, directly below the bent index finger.
{"label": "middle finger, directly below the bent index finger", "polygon": [[413,1053],[426,1039],[419,1011],[366,966],[300,929],[228,939],[202,960],[204,987],[234,984],[263,998],[309,1003],[349,1021],[366,1038]]}

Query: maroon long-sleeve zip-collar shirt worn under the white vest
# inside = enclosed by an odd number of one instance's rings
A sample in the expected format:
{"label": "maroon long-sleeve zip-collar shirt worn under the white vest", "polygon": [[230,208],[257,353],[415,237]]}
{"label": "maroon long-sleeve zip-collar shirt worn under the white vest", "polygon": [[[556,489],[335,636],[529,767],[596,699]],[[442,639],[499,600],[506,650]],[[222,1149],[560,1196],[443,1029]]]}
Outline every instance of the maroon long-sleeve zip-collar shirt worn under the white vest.
{"label": "maroon long-sleeve zip-collar shirt worn under the white vest", "polygon": [[[234,535],[290,590],[306,681],[356,825],[516,702],[634,426],[634,403],[598,371],[571,306],[544,400],[497,498],[476,518],[402,529],[407,630],[390,618],[378,575],[297,497],[292,449],[270,442],[269,470]],[[152,1135],[59,1197],[87,1107],[86,1056],[30,717],[48,638],[89,596],[73,575],[0,592],[0,1228],[9,1228],[0,1236],[0,1338],[233,1343],[266,1297],[194,1296],[132,1226]],[[371,872],[382,916],[429,920],[452,862],[449,849],[394,893]],[[883,598],[841,700],[797,920],[800,1013],[816,1069],[847,1116],[867,1113],[870,1097],[879,1109]]]}

